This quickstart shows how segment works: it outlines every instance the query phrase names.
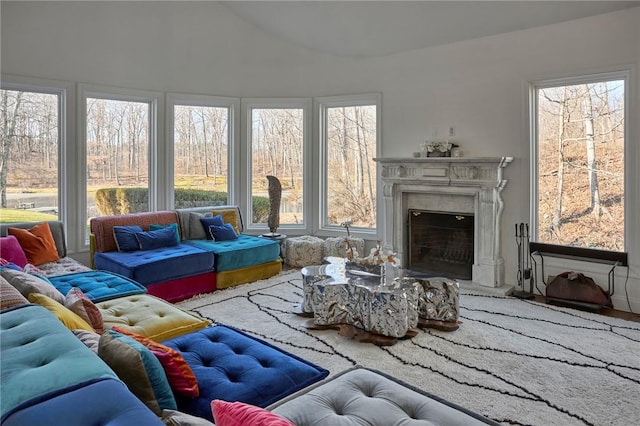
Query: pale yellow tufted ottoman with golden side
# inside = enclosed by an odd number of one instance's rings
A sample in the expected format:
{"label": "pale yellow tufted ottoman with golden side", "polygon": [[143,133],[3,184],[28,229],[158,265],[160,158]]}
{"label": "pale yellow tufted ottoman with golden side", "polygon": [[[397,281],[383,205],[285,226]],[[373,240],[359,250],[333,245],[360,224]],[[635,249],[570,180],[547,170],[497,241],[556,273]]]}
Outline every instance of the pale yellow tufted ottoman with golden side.
{"label": "pale yellow tufted ottoman with golden side", "polygon": [[119,297],[96,304],[105,330],[118,326],[156,342],[207,327],[208,320],[148,294]]}

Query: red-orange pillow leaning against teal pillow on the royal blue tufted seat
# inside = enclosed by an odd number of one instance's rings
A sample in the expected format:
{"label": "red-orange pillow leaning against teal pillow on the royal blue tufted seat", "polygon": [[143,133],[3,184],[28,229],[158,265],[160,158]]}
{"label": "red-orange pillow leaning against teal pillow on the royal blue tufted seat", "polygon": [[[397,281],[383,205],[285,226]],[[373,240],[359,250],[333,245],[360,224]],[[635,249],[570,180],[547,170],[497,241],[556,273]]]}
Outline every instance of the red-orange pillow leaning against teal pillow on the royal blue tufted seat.
{"label": "red-orange pillow leaning against teal pillow on the royal blue tufted seat", "polygon": [[113,327],[112,330],[132,337],[149,349],[151,353],[158,358],[160,364],[162,364],[164,373],[167,375],[167,379],[169,380],[169,385],[175,393],[189,398],[198,397],[200,394],[198,380],[196,379],[195,374],[193,374],[191,367],[189,367],[189,364],[187,364],[179,352],[158,343],[155,340],[151,340],[148,337],[141,336],[138,333],[134,333],[133,331],[129,331],[124,328],[116,326]]}

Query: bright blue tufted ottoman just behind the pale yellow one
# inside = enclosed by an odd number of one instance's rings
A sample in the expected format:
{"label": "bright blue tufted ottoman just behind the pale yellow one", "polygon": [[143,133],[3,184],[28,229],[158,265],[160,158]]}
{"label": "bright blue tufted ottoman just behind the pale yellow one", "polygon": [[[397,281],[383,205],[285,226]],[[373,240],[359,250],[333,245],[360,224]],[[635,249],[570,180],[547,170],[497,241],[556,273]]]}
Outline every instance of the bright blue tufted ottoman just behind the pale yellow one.
{"label": "bright blue tufted ottoman just behind the pale yellow one", "polygon": [[78,272],[52,277],[49,281],[62,294],[77,287],[94,303],[147,292],[142,284],[109,271]]}

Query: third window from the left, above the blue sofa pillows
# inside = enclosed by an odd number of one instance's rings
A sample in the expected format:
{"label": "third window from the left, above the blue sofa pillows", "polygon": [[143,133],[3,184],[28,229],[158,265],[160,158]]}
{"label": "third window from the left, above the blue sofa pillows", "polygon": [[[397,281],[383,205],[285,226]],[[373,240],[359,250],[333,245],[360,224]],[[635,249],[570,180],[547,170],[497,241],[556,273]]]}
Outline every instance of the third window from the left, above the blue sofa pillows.
{"label": "third window from the left, above the blue sofa pillows", "polygon": [[238,102],[173,96],[174,207],[229,204],[234,111]]}

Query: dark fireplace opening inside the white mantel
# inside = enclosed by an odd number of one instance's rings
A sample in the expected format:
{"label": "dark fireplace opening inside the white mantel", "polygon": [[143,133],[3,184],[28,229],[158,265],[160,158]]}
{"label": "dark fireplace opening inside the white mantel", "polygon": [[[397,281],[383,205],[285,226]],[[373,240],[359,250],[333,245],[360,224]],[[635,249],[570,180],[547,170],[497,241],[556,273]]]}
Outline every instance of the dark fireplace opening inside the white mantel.
{"label": "dark fireplace opening inside the white mantel", "polygon": [[473,215],[408,211],[408,268],[436,276],[472,279]]}

